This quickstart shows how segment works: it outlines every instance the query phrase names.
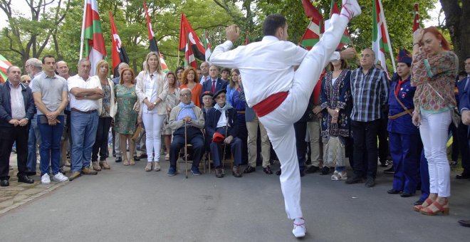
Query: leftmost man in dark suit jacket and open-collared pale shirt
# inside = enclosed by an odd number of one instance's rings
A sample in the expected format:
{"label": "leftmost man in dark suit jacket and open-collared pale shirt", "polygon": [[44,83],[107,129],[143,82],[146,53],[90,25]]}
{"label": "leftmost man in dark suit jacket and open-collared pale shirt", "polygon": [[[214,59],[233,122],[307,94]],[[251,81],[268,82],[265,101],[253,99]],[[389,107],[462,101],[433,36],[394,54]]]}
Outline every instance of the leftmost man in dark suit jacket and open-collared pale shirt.
{"label": "leftmost man in dark suit jacket and open-collared pale shirt", "polygon": [[20,83],[21,70],[11,65],[6,69],[8,79],[0,84],[0,186],[9,186],[9,162],[13,143],[16,142],[19,182],[34,180],[26,174],[28,159],[28,132],[35,110],[33,93]]}

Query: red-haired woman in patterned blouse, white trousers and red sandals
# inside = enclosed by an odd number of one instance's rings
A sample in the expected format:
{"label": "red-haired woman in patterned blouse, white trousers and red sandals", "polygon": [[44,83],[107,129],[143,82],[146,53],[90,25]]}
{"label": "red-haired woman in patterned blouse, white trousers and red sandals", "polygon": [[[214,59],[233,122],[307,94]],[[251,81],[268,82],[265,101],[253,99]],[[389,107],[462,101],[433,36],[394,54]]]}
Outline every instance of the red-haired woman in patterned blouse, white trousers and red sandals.
{"label": "red-haired woman in patterned blouse, white trousers and red sandals", "polygon": [[414,206],[414,210],[426,215],[449,214],[446,144],[451,112],[456,106],[454,82],[459,66],[457,56],[449,50],[449,43],[434,26],[413,36],[411,83],[416,86],[416,93],[412,121],[419,127],[424,145],[430,191],[426,201]]}

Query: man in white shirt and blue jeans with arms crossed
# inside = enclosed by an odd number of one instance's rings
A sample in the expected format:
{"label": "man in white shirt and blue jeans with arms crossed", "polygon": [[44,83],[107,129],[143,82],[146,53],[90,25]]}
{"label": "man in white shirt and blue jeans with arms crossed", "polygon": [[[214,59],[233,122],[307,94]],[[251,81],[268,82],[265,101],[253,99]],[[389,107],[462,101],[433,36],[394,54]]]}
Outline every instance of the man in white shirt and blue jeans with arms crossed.
{"label": "man in white shirt and blue jeans with arms crossed", "polygon": [[98,100],[103,98],[100,80],[90,78],[91,63],[86,58],[78,62],[78,74],[68,78],[68,92],[71,98],[72,130],[72,174],[69,179],[81,174],[95,175],[90,169],[91,149],[95,144],[98,129]]}

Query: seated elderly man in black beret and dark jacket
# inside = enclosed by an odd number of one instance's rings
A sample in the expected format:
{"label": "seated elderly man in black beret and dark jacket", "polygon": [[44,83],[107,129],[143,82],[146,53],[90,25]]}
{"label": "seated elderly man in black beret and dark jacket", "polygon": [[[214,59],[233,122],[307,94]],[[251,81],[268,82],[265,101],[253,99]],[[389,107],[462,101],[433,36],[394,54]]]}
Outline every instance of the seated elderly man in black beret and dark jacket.
{"label": "seated elderly man in black beret and dark jacket", "polygon": [[236,110],[226,102],[226,90],[221,89],[214,93],[216,105],[207,112],[206,134],[211,138],[212,161],[216,168],[216,177],[224,177],[221,167],[221,149],[219,142],[230,144],[234,154],[234,177],[241,177],[239,165],[241,163],[241,140],[237,137],[239,127],[236,125]]}

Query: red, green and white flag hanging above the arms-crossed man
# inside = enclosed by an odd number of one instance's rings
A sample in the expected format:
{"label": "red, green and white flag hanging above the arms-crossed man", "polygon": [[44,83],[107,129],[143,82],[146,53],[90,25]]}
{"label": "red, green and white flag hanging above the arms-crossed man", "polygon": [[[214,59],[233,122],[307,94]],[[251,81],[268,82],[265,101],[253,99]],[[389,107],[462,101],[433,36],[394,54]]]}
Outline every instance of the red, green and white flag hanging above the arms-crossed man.
{"label": "red, green and white flag hanging above the arms-crossed man", "polygon": [[105,38],[103,38],[96,0],[86,0],[84,38],[85,56],[90,60],[90,76],[92,76],[95,75],[98,61],[106,58]]}

